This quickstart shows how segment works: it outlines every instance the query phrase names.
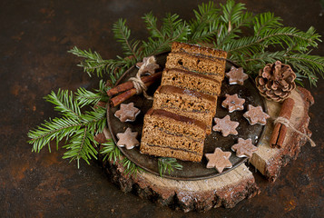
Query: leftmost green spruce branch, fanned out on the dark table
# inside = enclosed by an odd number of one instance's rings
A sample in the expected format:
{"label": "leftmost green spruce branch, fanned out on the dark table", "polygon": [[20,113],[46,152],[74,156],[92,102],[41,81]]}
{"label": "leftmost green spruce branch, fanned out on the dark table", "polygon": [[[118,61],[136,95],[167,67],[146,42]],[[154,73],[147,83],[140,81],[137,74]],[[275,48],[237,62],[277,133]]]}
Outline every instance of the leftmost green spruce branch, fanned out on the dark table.
{"label": "leftmost green spruce branch, fanned out on the dark table", "polygon": [[54,118],[53,121],[45,121],[36,129],[28,133],[29,144],[33,144],[33,152],[40,152],[46,144],[51,141],[62,141],[65,138],[64,158],[71,161],[77,160],[79,167],[80,159],[86,163],[97,158],[96,145],[93,135],[96,131],[103,131],[106,126],[106,110],[103,107],[93,108],[83,114],[80,111],[80,102],[69,91],[59,90],[57,94],[52,92],[45,99],[56,105],[55,110],[59,110],[63,117]]}

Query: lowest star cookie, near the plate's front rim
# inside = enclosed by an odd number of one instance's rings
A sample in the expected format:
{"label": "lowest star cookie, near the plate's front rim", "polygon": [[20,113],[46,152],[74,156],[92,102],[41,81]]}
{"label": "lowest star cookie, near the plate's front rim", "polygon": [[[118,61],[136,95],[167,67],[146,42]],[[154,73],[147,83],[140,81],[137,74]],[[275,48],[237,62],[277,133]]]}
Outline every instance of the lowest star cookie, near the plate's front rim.
{"label": "lowest star cookie, near the plate's front rim", "polygon": [[208,159],[207,168],[213,168],[221,173],[224,168],[231,168],[230,162],[231,152],[223,152],[221,148],[216,148],[213,154],[205,154]]}

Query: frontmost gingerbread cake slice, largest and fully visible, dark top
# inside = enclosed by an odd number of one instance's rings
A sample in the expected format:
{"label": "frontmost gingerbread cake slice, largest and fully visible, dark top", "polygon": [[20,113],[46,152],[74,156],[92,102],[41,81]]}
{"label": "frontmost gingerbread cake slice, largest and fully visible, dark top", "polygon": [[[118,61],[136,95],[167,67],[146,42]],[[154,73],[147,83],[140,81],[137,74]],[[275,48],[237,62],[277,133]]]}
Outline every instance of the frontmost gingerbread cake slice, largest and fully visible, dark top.
{"label": "frontmost gingerbread cake slice, largest and fully visible, dark top", "polygon": [[144,116],[141,153],[200,162],[206,124],[180,114],[150,109]]}

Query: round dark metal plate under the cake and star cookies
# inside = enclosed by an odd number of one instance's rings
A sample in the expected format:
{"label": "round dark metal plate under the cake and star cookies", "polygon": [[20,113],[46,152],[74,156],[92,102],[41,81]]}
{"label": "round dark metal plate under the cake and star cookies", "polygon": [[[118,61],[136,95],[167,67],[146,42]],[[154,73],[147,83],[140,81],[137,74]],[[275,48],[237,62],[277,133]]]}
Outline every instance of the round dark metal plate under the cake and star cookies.
{"label": "round dark metal plate under the cake and star cookies", "polygon": [[[157,63],[164,67],[166,61],[167,54],[158,54],[156,55]],[[227,69],[231,67],[232,64],[227,63]],[[123,84],[128,81],[130,77],[133,77],[137,73],[138,69],[136,67],[130,68],[123,76],[119,79],[117,84]],[[161,81],[157,81],[156,84],[153,84],[149,90],[148,94],[153,94],[156,88],[161,84]],[[221,102],[225,99],[225,94],[238,94],[239,97],[245,99],[244,110],[243,111],[235,111],[233,113],[229,113],[227,109],[221,107]],[[114,116],[114,113],[119,110],[119,106],[117,107],[108,107],[107,108],[107,121],[109,130],[113,136],[114,143],[117,143],[116,134],[123,133],[127,127],[130,127],[132,131],[138,132],[138,139],[141,140],[142,137],[142,124],[143,124],[143,116],[146,112],[152,107],[152,101],[145,99],[142,94],[134,95],[129,100],[125,101],[124,104],[128,104],[133,102],[134,105],[141,110],[141,113],[137,116],[135,122],[126,122],[122,123],[118,118]],[[240,84],[229,84],[228,79],[225,78],[222,82],[221,86],[221,95],[217,101],[217,112],[216,117],[222,118],[226,114],[230,114],[232,121],[240,122],[240,125],[237,127],[238,135],[229,135],[227,137],[223,137],[221,133],[214,132],[207,136],[204,144],[204,154],[213,153],[216,147],[220,147],[222,151],[231,152],[230,161],[232,163],[232,168],[224,169],[222,173],[218,173],[214,168],[207,169],[207,159],[205,156],[202,157],[201,163],[192,163],[192,162],[184,162],[178,160],[178,163],[181,163],[183,168],[182,170],[174,170],[170,175],[166,173],[164,177],[172,178],[176,180],[201,180],[207,179],[214,176],[221,175],[223,173],[228,173],[235,167],[239,166],[241,163],[247,161],[247,158],[239,158],[235,155],[234,152],[231,151],[231,146],[236,144],[238,138],[241,137],[243,139],[252,139],[252,143],[257,145],[260,142],[262,134],[264,133],[265,126],[260,124],[250,125],[249,122],[243,117],[243,114],[247,111],[247,105],[252,104],[254,106],[261,105],[263,107],[263,111],[267,112],[267,108],[265,106],[265,101],[263,97],[260,96],[259,91],[254,85],[252,79],[248,79],[245,81],[244,85]],[[140,141],[141,142],[141,141]],[[152,155],[141,154],[139,146],[127,150],[125,148],[120,148],[122,153],[129,158],[133,163],[142,167],[145,171],[159,174],[158,169],[158,158]]]}

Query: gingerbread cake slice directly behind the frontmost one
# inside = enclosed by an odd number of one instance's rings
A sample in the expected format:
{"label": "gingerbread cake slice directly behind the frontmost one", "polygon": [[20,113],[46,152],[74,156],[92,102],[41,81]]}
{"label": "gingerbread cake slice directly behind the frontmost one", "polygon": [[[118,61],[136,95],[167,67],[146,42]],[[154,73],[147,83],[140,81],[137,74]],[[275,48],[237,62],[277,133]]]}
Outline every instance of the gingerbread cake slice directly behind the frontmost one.
{"label": "gingerbread cake slice directly behind the frontmost one", "polygon": [[199,120],[207,125],[207,134],[211,134],[216,103],[215,97],[210,94],[202,94],[172,85],[162,85],[154,94],[152,107]]}

